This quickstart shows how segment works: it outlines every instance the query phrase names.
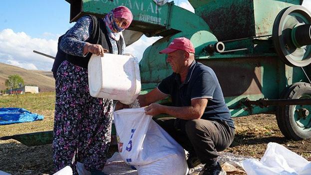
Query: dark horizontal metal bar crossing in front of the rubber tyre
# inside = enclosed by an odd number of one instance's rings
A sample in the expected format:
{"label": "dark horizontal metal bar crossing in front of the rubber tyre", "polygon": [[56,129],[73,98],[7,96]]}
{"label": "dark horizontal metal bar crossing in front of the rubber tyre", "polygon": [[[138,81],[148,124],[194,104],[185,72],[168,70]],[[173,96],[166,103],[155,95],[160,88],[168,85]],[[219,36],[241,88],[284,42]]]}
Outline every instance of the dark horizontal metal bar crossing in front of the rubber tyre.
{"label": "dark horizontal metal bar crossing in front of the rubber tyre", "polygon": [[[271,105],[310,105],[311,98],[304,99],[259,99],[256,101],[244,100],[242,103],[246,106],[258,105],[260,107],[267,107]],[[309,111],[308,111],[309,112]]]}

